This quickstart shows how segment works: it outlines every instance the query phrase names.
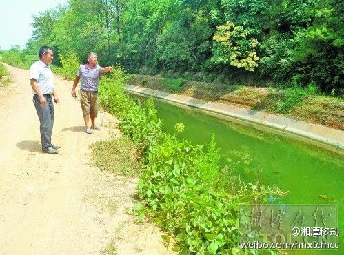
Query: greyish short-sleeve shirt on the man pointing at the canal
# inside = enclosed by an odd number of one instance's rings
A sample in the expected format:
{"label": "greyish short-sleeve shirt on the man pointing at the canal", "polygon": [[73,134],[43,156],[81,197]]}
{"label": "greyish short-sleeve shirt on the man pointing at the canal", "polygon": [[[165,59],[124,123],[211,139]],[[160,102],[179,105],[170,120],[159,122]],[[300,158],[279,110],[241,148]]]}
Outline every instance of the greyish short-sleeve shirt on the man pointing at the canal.
{"label": "greyish short-sleeve shirt on the man pointing at the canal", "polygon": [[81,90],[97,92],[100,75],[101,66],[90,68],[87,64],[80,65],[77,76],[81,79]]}

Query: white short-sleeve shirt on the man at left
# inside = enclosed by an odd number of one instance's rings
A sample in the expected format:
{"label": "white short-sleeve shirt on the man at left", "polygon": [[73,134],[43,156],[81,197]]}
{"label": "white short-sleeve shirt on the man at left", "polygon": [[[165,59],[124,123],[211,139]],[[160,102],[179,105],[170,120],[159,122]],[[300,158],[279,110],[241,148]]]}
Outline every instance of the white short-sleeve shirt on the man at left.
{"label": "white short-sleeve shirt on the man at left", "polygon": [[[37,86],[42,94],[52,94],[54,92],[54,75],[49,65],[42,61],[34,62],[30,67],[30,79],[36,79]],[[36,94],[32,90],[33,94]]]}

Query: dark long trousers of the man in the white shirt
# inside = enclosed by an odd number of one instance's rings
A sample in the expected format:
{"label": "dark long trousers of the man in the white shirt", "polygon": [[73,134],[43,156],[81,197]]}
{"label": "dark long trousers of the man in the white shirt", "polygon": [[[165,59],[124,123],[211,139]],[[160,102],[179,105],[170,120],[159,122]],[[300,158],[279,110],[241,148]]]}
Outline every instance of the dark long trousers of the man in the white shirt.
{"label": "dark long trousers of the man in the white shirt", "polygon": [[41,131],[41,143],[42,150],[48,149],[51,147],[52,139],[52,126],[54,125],[54,105],[52,103],[51,94],[43,94],[45,100],[47,101],[46,105],[43,106],[39,103],[39,97],[37,94],[34,94],[34,107],[36,108],[39,121],[41,122],[40,131]]}

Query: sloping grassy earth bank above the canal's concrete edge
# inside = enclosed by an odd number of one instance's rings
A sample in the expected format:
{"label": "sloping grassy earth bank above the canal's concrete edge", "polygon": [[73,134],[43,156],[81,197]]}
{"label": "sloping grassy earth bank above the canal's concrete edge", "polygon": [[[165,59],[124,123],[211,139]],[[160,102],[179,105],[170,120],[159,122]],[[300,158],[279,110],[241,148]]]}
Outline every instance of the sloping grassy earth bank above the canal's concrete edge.
{"label": "sloping grassy earth bank above the canal's concrete edge", "polygon": [[207,101],[235,103],[344,130],[344,99],[320,95],[314,87],[278,90],[145,75],[130,75],[128,84]]}

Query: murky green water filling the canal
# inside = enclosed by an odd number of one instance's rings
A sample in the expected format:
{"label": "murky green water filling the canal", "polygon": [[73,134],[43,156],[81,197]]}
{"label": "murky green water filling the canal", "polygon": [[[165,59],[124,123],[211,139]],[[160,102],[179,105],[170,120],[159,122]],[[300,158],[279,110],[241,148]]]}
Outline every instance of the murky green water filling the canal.
{"label": "murky green water filling the canal", "polygon": [[166,132],[172,132],[181,122],[185,130],[179,137],[194,144],[209,144],[215,134],[223,163],[237,156],[245,159],[245,167],[237,170],[243,179],[289,191],[279,198],[281,201],[272,199],[271,203],[338,204],[339,251],[303,250],[292,254],[344,254],[344,156],[191,108],[154,102]]}

